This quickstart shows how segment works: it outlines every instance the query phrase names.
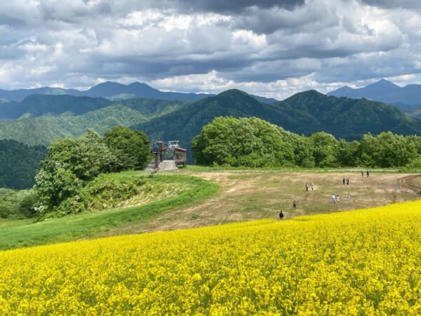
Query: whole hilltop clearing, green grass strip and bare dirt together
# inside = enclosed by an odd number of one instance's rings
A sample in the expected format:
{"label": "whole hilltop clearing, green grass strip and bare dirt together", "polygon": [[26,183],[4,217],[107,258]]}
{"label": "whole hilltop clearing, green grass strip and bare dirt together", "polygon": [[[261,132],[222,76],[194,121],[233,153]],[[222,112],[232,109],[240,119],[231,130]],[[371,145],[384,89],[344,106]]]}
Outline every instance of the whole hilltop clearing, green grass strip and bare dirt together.
{"label": "whole hilltop clearing, green grass strip and bare dirt together", "polygon": [[[190,166],[176,172],[158,171],[155,176],[145,178],[147,190],[115,204],[112,209],[48,218],[38,223],[29,219],[1,220],[0,249],[274,219],[281,210],[288,220],[421,199],[417,194],[421,190],[421,176],[409,173],[372,172],[368,178],[366,173],[361,177],[361,171],[199,170]],[[126,171],[114,176],[147,174],[150,173]],[[349,185],[343,185],[344,178],[349,179]],[[306,182],[309,191],[305,190]],[[408,187],[401,190],[399,183]],[[332,203],[332,193],[339,195],[340,202]]]}

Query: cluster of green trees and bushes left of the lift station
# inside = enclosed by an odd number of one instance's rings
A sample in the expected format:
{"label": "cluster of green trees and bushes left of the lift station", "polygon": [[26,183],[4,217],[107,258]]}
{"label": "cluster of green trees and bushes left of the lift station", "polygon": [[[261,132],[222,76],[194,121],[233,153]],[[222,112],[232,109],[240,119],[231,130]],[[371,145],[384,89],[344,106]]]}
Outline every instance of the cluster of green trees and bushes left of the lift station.
{"label": "cluster of green trees and bushes left of the lift station", "polygon": [[100,174],[146,166],[149,140],[145,133],[116,127],[106,134],[102,138],[88,129],[80,138],[58,139],[48,147],[35,176],[39,213],[55,211],[60,205],[64,212],[79,211],[86,193],[83,187]]}

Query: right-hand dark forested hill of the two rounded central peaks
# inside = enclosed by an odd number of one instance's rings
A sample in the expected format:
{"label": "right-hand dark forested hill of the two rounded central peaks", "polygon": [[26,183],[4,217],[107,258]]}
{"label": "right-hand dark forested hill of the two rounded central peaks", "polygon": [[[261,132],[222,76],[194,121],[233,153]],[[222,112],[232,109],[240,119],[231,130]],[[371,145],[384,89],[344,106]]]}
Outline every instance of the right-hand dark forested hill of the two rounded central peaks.
{"label": "right-hand dark forested hill of the two rounded central peaks", "polygon": [[315,126],[302,124],[297,116],[284,129],[309,136],[316,131],[326,131],[336,138],[356,140],[365,133],[379,134],[392,131],[402,135],[421,135],[421,121],[401,112],[398,108],[385,103],[367,99],[337,98],[325,96],[317,91],[297,93],[290,98],[274,103],[272,106],[283,112],[310,114]]}

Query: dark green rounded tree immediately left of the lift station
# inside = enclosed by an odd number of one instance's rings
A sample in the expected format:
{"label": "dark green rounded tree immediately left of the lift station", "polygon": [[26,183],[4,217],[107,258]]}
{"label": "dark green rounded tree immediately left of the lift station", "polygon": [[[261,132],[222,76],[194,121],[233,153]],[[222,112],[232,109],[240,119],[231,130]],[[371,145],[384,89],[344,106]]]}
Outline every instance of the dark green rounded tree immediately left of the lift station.
{"label": "dark green rounded tree immediately left of the lift station", "polygon": [[105,133],[104,142],[116,157],[114,171],[145,169],[151,158],[149,139],[142,131],[116,126]]}

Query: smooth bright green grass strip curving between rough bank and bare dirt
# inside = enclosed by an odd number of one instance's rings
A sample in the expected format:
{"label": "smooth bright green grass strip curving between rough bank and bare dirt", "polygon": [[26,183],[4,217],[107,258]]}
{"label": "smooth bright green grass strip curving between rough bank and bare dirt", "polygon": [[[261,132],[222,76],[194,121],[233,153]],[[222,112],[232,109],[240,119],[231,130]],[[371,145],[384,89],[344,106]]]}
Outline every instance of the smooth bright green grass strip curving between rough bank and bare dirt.
{"label": "smooth bright green grass strip curving between rough bank and bare dirt", "polygon": [[182,205],[199,203],[218,191],[218,185],[215,183],[191,176],[154,176],[151,180],[185,183],[192,189],[181,192],[177,197],[161,199],[143,206],[81,213],[64,218],[51,218],[39,223],[32,223],[29,220],[19,221],[20,225],[2,223],[0,225],[0,249],[69,242],[91,237],[95,233],[124,223],[147,220]]}

